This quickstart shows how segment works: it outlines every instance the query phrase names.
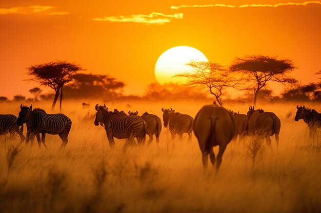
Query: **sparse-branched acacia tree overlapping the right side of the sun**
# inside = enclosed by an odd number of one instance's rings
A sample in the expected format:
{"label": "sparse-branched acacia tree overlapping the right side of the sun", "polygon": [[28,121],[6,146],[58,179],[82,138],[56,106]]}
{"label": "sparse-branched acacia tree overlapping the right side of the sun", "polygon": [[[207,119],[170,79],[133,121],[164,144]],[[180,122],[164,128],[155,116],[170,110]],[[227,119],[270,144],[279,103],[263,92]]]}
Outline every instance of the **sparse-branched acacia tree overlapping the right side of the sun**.
{"label": "sparse-branched acacia tree overlapping the right side of the sun", "polygon": [[222,106],[222,94],[229,87],[235,88],[242,79],[236,79],[235,75],[226,70],[222,65],[209,61],[191,61],[191,72],[176,74],[174,77],[187,79],[185,85],[202,86],[209,90],[217,103]]}

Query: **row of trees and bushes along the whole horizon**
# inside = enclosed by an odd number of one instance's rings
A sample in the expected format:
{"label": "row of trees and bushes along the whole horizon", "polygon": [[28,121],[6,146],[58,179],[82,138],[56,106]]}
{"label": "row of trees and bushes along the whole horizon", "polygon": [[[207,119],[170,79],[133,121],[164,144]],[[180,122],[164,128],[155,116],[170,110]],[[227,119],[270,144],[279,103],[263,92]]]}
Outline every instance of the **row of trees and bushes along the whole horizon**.
{"label": "row of trees and bushes along the whole horizon", "polygon": [[[211,94],[219,105],[230,100],[228,93],[232,90],[243,92],[238,101],[253,104],[259,101],[321,101],[321,82],[300,85],[289,74],[296,68],[292,60],[278,59],[263,55],[235,58],[229,67],[214,62],[188,63],[193,69],[190,72],[177,74],[174,77],[185,78],[185,85],[152,83],[147,86],[143,97],[125,97],[125,83],[109,75],[79,73],[85,69],[67,61],[52,61],[27,67],[30,81],[53,89],[54,93],[42,94],[43,90],[35,87],[29,90],[33,99],[28,101],[53,100],[52,108],[60,96],[60,108],[63,97],[68,99],[147,99],[147,100],[204,100]],[[321,76],[321,70],[315,75]],[[284,84],[285,90],[280,97],[273,96],[270,82]],[[0,102],[8,101],[0,97]],[[17,95],[13,101],[26,101],[26,97]]]}

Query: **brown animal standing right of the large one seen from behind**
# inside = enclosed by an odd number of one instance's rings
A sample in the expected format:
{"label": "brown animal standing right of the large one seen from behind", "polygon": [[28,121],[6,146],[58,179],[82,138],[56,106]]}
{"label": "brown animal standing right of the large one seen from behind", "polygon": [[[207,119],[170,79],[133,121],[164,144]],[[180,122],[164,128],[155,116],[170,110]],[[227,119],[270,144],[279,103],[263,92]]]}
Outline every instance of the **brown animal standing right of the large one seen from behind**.
{"label": "brown animal standing right of the large one seen from behind", "polygon": [[278,145],[281,121],[273,112],[254,110],[254,107],[250,107],[247,116],[248,134],[256,133],[265,137],[268,145],[271,145],[270,136],[275,135],[276,145]]}

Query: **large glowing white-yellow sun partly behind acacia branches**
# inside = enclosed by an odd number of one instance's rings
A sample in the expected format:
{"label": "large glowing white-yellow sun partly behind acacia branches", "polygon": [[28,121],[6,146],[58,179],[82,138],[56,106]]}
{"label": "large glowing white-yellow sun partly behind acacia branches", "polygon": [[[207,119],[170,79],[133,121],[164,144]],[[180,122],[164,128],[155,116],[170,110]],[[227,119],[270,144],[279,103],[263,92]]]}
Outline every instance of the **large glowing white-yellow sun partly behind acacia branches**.
{"label": "large glowing white-yellow sun partly behind acacia branches", "polygon": [[155,78],[158,83],[184,83],[182,78],[173,78],[175,74],[189,72],[190,61],[208,61],[199,50],[190,46],[175,46],[159,56],[155,64]]}

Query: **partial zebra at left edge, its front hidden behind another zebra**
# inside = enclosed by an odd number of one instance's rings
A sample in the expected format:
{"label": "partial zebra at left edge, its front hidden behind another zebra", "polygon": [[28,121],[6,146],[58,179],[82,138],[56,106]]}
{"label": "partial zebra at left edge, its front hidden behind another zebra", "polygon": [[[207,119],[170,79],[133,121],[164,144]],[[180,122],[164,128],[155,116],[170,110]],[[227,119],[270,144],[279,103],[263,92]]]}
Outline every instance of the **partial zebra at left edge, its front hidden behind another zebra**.
{"label": "partial zebra at left edge, its front hidden behind another zebra", "polygon": [[19,128],[17,120],[18,118],[13,114],[0,114],[0,135],[9,133],[10,139],[12,139],[15,134],[18,134],[21,139],[20,145],[26,137],[23,135],[24,126],[22,125],[21,128]]}

